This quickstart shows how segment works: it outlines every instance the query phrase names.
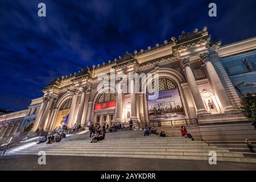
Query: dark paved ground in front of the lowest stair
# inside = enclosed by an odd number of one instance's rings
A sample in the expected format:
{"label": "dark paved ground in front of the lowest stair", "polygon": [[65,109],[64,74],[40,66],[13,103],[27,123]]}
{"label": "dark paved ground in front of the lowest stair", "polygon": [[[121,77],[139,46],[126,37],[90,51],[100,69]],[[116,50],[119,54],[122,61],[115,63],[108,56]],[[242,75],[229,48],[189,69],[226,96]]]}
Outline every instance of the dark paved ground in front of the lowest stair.
{"label": "dark paved ground in front of the lowest stair", "polygon": [[36,155],[1,156],[0,170],[256,170],[256,164],[217,162],[210,166],[203,160],[47,156],[46,165],[39,165],[38,158]]}

